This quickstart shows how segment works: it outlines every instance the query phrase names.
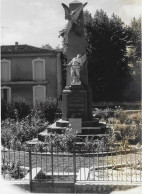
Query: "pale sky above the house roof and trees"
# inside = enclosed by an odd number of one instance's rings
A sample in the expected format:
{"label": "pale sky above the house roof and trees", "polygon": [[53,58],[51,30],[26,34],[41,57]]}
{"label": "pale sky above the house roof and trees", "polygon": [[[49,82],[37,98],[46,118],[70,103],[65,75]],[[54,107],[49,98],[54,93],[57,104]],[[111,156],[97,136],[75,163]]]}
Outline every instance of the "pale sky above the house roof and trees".
{"label": "pale sky above the house roof and trees", "polygon": [[[142,13],[142,0],[79,0],[88,2],[84,10],[104,10],[118,15],[125,24]],[[28,44],[41,47],[61,45],[59,31],[67,24],[61,3],[73,0],[1,0],[0,42],[2,45]]]}

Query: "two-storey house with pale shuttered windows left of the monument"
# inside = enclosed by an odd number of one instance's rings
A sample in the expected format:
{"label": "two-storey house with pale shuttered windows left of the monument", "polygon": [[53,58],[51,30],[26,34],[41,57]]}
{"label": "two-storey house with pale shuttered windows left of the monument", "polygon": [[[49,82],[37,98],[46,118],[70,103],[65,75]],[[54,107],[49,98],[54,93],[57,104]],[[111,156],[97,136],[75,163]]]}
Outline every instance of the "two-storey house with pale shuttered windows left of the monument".
{"label": "two-storey house with pale shuttered windows left of the monument", "polygon": [[60,52],[29,45],[1,47],[1,99],[29,103],[60,99],[62,93]]}

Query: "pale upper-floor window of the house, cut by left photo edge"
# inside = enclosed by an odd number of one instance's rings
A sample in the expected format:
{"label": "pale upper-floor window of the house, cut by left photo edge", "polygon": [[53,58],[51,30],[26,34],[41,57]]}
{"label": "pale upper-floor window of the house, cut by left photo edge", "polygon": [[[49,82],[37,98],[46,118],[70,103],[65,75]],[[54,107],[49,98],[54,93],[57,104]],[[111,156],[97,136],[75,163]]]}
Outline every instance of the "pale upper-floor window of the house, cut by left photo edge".
{"label": "pale upper-floor window of the house, cut by left photo edge", "polygon": [[11,80],[11,62],[8,60],[1,60],[1,81],[8,82]]}

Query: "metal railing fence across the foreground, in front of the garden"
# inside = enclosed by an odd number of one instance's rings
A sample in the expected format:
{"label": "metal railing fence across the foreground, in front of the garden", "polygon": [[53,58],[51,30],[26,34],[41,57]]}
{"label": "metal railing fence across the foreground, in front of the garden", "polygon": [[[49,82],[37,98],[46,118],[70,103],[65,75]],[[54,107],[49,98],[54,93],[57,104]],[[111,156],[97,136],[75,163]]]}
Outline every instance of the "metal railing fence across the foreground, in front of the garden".
{"label": "metal railing fence across the foreground, in front of the garden", "polygon": [[73,147],[61,150],[46,146],[44,150],[1,151],[2,176],[6,180],[29,181],[142,181],[142,148]]}

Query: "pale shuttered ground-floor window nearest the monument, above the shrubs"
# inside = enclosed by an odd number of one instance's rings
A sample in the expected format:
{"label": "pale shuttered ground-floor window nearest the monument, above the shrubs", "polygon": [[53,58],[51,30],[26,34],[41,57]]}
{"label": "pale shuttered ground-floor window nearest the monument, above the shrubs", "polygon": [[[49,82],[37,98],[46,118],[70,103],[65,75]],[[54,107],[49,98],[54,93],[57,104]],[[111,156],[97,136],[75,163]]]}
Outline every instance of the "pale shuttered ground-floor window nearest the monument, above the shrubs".
{"label": "pale shuttered ground-floor window nearest the monument, above the shrubs", "polygon": [[33,86],[33,103],[35,103],[35,101],[44,102],[45,99],[46,99],[46,87]]}

